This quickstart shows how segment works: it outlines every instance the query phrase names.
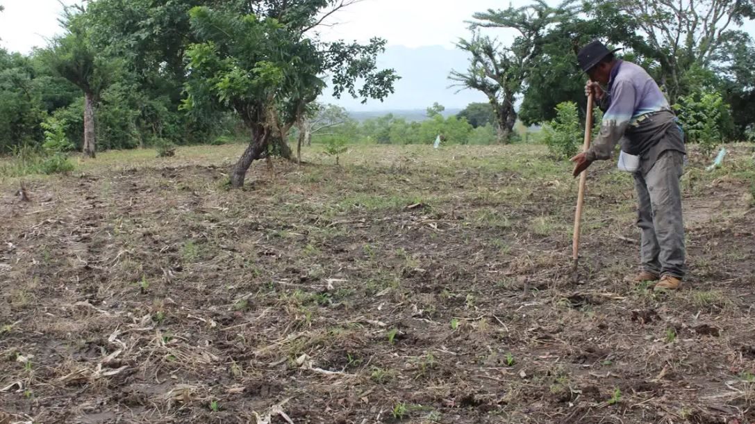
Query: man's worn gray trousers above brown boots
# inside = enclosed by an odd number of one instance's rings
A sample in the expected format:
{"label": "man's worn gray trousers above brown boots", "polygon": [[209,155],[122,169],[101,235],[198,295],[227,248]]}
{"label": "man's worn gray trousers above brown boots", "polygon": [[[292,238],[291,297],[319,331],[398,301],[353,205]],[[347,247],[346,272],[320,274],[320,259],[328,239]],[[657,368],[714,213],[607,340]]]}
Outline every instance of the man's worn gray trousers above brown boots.
{"label": "man's worn gray trousers above brown boots", "polygon": [[643,271],[683,278],[684,222],[680,177],[684,153],[662,152],[648,172],[634,174],[639,199],[637,227],[642,231],[639,257]]}

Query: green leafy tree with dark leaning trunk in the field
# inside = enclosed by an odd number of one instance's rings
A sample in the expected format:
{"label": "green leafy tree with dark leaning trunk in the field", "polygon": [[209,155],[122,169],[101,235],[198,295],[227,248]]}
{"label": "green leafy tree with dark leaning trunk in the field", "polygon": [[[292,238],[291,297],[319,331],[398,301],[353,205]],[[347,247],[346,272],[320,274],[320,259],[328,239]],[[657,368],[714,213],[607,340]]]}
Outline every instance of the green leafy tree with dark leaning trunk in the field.
{"label": "green leafy tree with dark leaning trunk in the field", "polygon": [[[385,42],[326,43],[305,32],[344,6],[340,0],[231,2],[224,8],[196,7],[191,25],[201,42],[190,46],[186,108],[203,104],[233,110],[251,142],[233,168],[230,183],[242,187],[251,162],[271,138],[288,130],[322,92],[330,73],[334,96],[383,98],[393,92],[393,70],[375,70]],[[242,13],[239,13],[239,8]],[[361,79],[364,84],[357,87]]]}

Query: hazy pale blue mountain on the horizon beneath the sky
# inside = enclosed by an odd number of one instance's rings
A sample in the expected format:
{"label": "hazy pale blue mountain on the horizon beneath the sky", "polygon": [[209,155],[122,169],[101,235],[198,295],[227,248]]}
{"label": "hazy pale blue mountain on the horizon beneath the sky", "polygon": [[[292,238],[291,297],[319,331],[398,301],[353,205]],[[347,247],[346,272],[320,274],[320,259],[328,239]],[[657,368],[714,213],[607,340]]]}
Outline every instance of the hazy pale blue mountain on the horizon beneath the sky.
{"label": "hazy pale blue mountain on the horizon beneath the sky", "polygon": [[[464,51],[448,49],[442,46],[428,46],[421,48],[407,48],[393,45],[386,48],[384,54],[377,59],[380,69],[393,68],[401,79],[396,82],[396,92],[384,102],[368,101],[360,104],[352,98],[336,100],[328,95],[319,101],[338,104],[350,112],[387,111],[387,110],[421,110],[438,102],[451,109],[464,109],[467,104],[476,101],[487,101],[479,91],[449,88],[453,82],[448,79],[451,70],[464,71],[469,66],[469,59]],[[348,97],[348,96],[346,96]]]}

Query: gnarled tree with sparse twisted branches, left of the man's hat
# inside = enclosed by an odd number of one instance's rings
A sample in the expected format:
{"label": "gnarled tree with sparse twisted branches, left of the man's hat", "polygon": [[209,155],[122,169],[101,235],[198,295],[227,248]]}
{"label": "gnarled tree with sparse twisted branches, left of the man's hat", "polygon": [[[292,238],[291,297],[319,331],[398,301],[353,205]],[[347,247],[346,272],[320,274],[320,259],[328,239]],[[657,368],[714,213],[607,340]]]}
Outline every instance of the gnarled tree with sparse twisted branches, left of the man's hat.
{"label": "gnarled tree with sparse twisted branches, left of the man's hat", "polygon": [[[563,16],[574,12],[569,0],[557,8],[550,8],[543,0],[534,5],[504,10],[488,10],[473,15],[470,41],[461,39],[457,46],[471,54],[467,73],[452,71],[451,80],[462,88],[482,91],[495,113],[499,143],[507,143],[516,123],[514,103],[521,94],[525,80],[532,71],[532,63],[541,54],[547,29]],[[482,28],[514,29],[519,33],[510,46],[482,35]]]}

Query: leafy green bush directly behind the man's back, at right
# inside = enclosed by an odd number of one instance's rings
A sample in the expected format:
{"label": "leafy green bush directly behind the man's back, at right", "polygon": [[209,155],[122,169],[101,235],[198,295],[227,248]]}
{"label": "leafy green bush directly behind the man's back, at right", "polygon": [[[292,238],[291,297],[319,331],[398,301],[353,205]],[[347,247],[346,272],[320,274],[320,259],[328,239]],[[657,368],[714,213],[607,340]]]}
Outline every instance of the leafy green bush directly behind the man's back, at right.
{"label": "leafy green bush directly behind the man's back, at right", "polygon": [[701,145],[701,151],[710,155],[723,137],[721,119],[729,114],[729,106],[716,91],[701,91],[679,98],[673,106],[689,141]]}

